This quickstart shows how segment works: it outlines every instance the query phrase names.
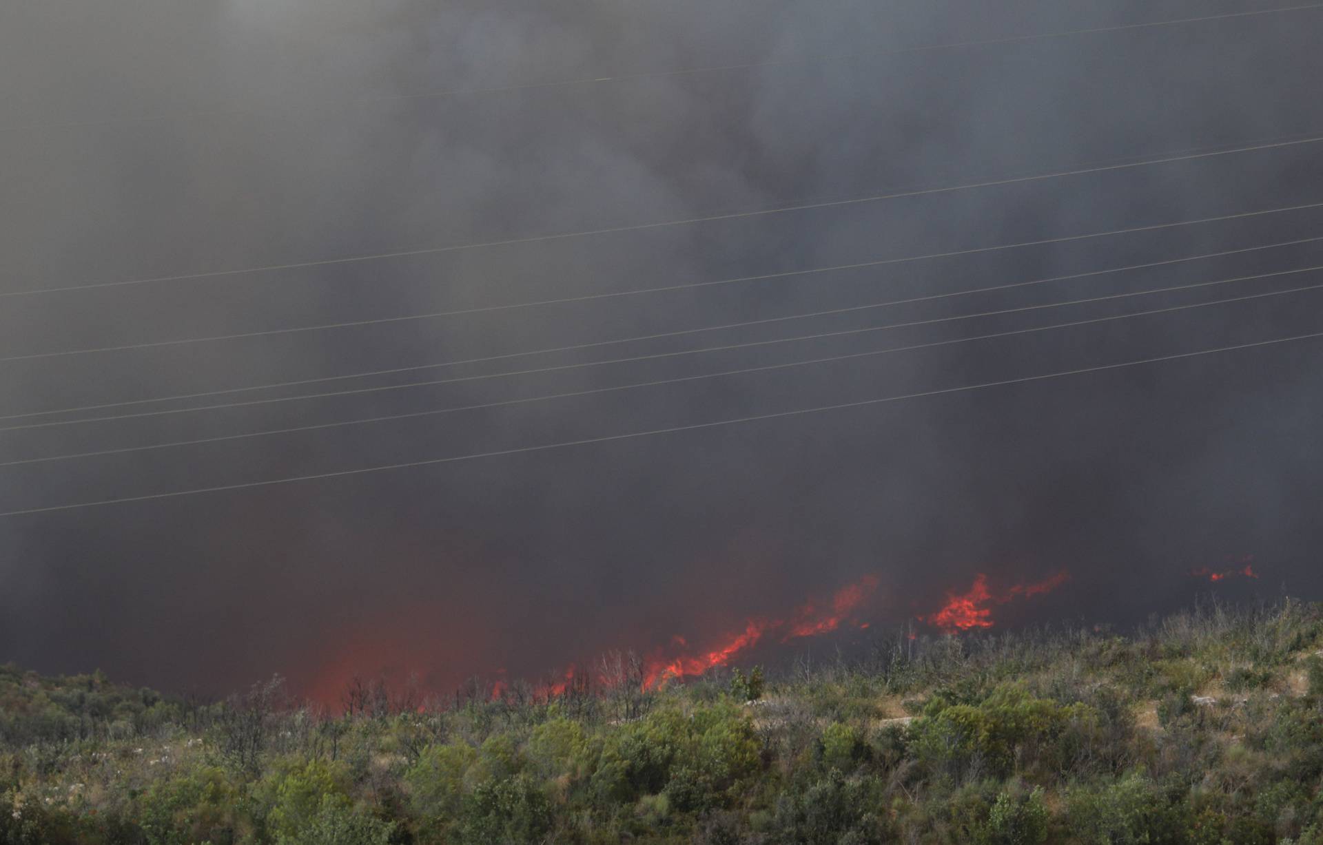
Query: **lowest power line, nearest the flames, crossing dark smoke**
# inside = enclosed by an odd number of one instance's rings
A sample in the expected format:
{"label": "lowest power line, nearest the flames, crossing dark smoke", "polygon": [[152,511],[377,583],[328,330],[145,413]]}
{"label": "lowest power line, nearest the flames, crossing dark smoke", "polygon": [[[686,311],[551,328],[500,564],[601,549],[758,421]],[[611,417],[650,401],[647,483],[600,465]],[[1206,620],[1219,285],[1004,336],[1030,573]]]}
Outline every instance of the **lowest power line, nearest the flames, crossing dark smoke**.
{"label": "lowest power line, nearest the flames, crossing dark smoke", "polygon": [[1068,376],[1082,376],[1085,373],[1099,373],[1099,372],[1105,372],[1105,370],[1115,370],[1115,369],[1122,369],[1122,368],[1129,368],[1129,366],[1140,366],[1140,365],[1146,365],[1146,364],[1158,364],[1158,362],[1163,362],[1163,361],[1177,361],[1177,360],[1193,358],[1193,357],[1205,356],[1205,354],[1217,354],[1217,353],[1222,353],[1222,352],[1237,352],[1237,350],[1244,350],[1244,349],[1254,349],[1254,348],[1261,348],[1261,346],[1287,344],[1287,342],[1294,342],[1294,341],[1301,341],[1301,340],[1312,340],[1312,339],[1316,339],[1316,337],[1323,337],[1323,332],[1312,332],[1310,335],[1295,335],[1293,337],[1277,337],[1277,339],[1271,339],[1271,340],[1261,340],[1261,341],[1249,342],[1249,344],[1236,344],[1236,345],[1232,345],[1232,346],[1218,346],[1218,348],[1215,348],[1215,349],[1199,349],[1199,350],[1195,350],[1195,352],[1181,352],[1181,353],[1177,353],[1177,354],[1158,356],[1158,357],[1151,357],[1151,358],[1140,358],[1140,360],[1136,360],[1136,361],[1122,361],[1122,362],[1118,362],[1118,364],[1103,364],[1101,366],[1088,366],[1088,368],[1080,368],[1080,369],[1074,369],[1074,370],[1060,370],[1060,372],[1056,372],[1056,373],[1043,373],[1043,374],[1039,374],[1039,376],[1024,376],[1024,377],[1019,377],[1019,378],[1005,378],[1005,380],[1000,380],[1000,381],[990,381],[990,382],[982,382],[982,383],[976,383],[976,385],[962,385],[962,386],[958,386],[958,387],[943,387],[943,389],[939,389],[939,390],[925,390],[922,393],[909,393],[909,394],[894,395],[894,397],[882,397],[882,398],[877,398],[877,399],[861,399],[861,401],[857,401],[857,402],[843,402],[843,403],[839,403],[839,405],[822,405],[822,406],[816,406],[816,407],[794,409],[794,410],[789,410],[789,411],[775,411],[775,413],[771,413],[771,414],[757,414],[757,415],[751,415],[751,417],[737,417],[737,418],[733,418],[733,419],[718,419],[718,421],[705,422],[705,423],[692,423],[692,424],[688,424],[688,426],[671,426],[671,427],[667,427],[667,428],[652,428],[652,430],[647,430],[647,431],[631,431],[631,432],[626,432],[626,434],[613,434],[613,435],[605,435],[605,436],[598,436],[598,438],[583,438],[583,439],[579,439],[579,440],[568,440],[568,442],[562,442],[562,443],[546,443],[546,444],[541,444],[541,446],[523,446],[523,447],[517,447],[517,448],[496,450],[496,451],[490,451],[490,452],[476,452],[476,454],[472,454],[472,455],[454,455],[454,456],[450,456],[450,458],[430,458],[430,459],[426,459],[426,460],[414,460],[414,462],[397,463],[397,464],[382,464],[382,465],[377,465],[377,467],[364,467],[364,468],[360,468],[360,469],[339,469],[339,471],[335,471],[335,472],[320,472],[320,473],[316,473],[316,475],[302,475],[302,476],[291,476],[291,477],[286,477],[286,479],[271,479],[271,480],[267,480],[267,481],[246,481],[246,483],[242,483],[242,484],[224,484],[224,485],[217,485],[217,487],[194,488],[194,489],[189,489],[189,491],[173,491],[173,492],[167,492],[167,493],[148,493],[148,495],[144,495],[144,496],[126,496],[123,499],[103,499],[103,500],[99,500],[99,501],[85,501],[85,503],[77,503],[77,504],[70,504],[70,505],[50,505],[50,506],[45,506],[45,508],[26,508],[26,509],[22,509],[22,510],[3,512],[3,513],[0,513],[0,517],[30,516],[30,514],[37,514],[37,513],[52,513],[52,512],[57,512],[57,510],[75,510],[75,509],[82,509],[82,508],[98,508],[98,506],[103,506],[103,505],[130,504],[130,503],[138,503],[138,501],[155,501],[155,500],[161,500],[161,499],[175,499],[175,497],[179,497],[179,496],[198,496],[198,495],[202,495],[202,493],[221,493],[221,492],[230,492],[230,491],[253,489],[253,488],[258,488],[258,487],[274,487],[274,485],[278,485],[278,484],[295,484],[295,483],[299,483],[299,481],[323,481],[323,480],[328,480],[328,479],[340,479],[340,477],[359,476],[359,475],[366,475],[366,473],[372,473],[372,472],[388,472],[388,471],[393,471],[393,469],[409,469],[409,468],[414,468],[414,467],[429,467],[429,465],[459,463],[459,462],[464,462],[464,460],[479,460],[479,459],[483,459],[483,458],[503,458],[503,456],[509,456],[509,455],[523,455],[523,454],[529,454],[529,452],[541,452],[541,451],[557,450],[557,448],[570,448],[570,447],[576,447],[576,446],[590,446],[590,444],[597,444],[597,443],[610,443],[610,442],[619,442],[619,440],[631,440],[631,439],[636,439],[636,438],[655,436],[655,435],[663,435],[663,434],[679,434],[679,432],[683,432],[683,431],[697,431],[697,430],[701,430],[701,428],[716,428],[716,427],[720,427],[720,426],[736,426],[736,424],[744,424],[744,423],[751,423],[751,422],[763,422],[763,421],[770,421],[770,419],[783,419],[783,418],[790,418],[790,417],[803,417],[803,415],[807,415],[807,414],[822,414],[822,413],[827,413],[827,411],[840,411],[840,410],[847,410],[847,409],[853,409],[853,407],[867,407],[867,406],[872,406],[872,405],[882,405],[882,403],[886,403],[886,402],[901,402],[901,401],[905,401],[905,399],[918,399],[918,398],[926,398],[926,397],[946,395],[946,394],[953,394],[953,393],[963,393],[963,391],[970,391],[970,390],[984,390],[984,389],[988,389],[988,387],[1002,387],[1002,386],[1008,386],[1008,385],[1029,383],[1029,382],[1045,381],[1045,380],[1050,380],[1050,378],[1064,378],[1064,377],[1068,377]]}

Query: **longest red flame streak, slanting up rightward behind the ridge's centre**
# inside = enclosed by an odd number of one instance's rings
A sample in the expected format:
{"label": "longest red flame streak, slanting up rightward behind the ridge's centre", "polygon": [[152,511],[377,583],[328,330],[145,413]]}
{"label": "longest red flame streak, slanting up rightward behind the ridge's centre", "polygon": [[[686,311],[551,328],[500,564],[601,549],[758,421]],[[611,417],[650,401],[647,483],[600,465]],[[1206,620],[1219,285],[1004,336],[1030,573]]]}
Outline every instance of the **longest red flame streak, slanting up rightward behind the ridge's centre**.
{"label": "longest red flame streak, slanting up rightward behind the ridge's centre", "polygon": [[[877,575],[865,575],[857,582],[841,588],[832,596],[830,607],[819,608],[814,602],[806,602],[789,619],[755,618],[745,622],[742,631],[728,633],[717,640],[713,648],[680,655],[658,653],[647,661],[643,670],[643,685],[655,686],[667,678],[693,677],[716,666],[729,665],[742,652],[749,651],[763,637],[779,635],[782,643],[807,636],[819,636],[839,629],[852,622],[852,614],[877,588]],[[853,623],[856,627],[867,627]],[[676,636],[672,648],[685,649],[684,637]]]}

